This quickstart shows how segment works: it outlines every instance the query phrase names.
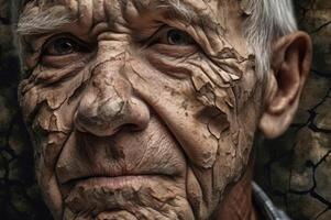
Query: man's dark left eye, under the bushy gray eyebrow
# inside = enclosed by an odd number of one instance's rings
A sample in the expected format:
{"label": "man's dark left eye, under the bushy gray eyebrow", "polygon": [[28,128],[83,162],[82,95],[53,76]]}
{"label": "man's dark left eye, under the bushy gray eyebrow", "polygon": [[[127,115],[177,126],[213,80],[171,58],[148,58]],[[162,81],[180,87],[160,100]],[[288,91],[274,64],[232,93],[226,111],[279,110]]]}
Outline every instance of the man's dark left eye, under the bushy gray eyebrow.
{"label": "man's dark left eye, under the bushy gray eyebrow", "polygon": [[43,55],[48,56],[64,56],[79,52],[88,52],[88,47],[85,46],[78,40],[74,40],[68,36],[56,37],[48,41],[43,47]]}

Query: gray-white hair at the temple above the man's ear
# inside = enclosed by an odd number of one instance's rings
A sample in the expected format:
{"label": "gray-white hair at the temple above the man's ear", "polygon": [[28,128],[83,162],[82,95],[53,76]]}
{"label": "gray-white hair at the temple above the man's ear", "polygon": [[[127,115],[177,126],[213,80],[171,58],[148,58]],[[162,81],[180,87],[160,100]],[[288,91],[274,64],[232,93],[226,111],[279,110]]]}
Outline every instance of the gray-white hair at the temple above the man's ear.
{"label": "gray-white hair at the temple above the man's ear", "polygon": [[[18,14],[23,6],[30,0],[13,0],[13,20],[18,21]],[[178,8],[180,1],[178,1]],[[255,54],[255,65],[258,78],[267,77],[266,73],[271,69],[272,44],[276,38],[288,35],[297,31],[297,23],[294,13],[291,0],[239,0],[244,4],[247,19],[244,22],[243,31],[247,38],[247,47]],[[178,9],[181,11],[181,9]],[[55,13],[45,12],[45,13]],[[43,19],[47,19],[44,16]],[[37,18],[35,18],[37,19]],[[58,16],[58,19],[67,21],[67,18]],[[33,25],[34,19],[30,18],[30,22],[25,24]],[[58,20],[58,21],[59,21]],[[51,20],[52,21],[52,20]],[[64,21],[60,21],[63,23]],[[69,22],[69,20],[67,21]],[[53,23],[54,25],[54,23]],[[40,28],[47,29],[47,28]],[[22,30],[21,30],[22,31]]]}

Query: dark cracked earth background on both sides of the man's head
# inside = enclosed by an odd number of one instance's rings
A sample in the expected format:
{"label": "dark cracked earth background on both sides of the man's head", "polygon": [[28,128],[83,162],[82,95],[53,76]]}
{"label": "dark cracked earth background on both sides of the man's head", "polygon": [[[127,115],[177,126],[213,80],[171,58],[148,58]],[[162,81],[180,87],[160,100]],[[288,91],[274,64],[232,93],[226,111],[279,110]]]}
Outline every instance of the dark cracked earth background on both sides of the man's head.
{"label": "dark cracked earth background on both sides of the man's head", "polygon": [[[294,220],[331,219],[331,1],[295,0],[311,34],[313,66],[300,109],[279,139],[256,143],[256,182]],[[52,219],[40,197],[33,152],[16,103],[19,61],[10,0],[0,0],[0,219]]]}

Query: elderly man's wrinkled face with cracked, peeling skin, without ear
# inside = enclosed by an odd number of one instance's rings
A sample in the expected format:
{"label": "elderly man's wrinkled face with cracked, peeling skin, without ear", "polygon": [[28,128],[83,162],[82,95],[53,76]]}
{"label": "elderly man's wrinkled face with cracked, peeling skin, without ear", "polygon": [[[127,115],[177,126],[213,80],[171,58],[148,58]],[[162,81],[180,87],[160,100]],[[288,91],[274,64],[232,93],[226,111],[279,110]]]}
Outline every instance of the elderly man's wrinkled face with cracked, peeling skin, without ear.
{"label": "elderly man's wrinkled face with cracked, peeling skin, without ear", "polygon": [[262,102],[244,10],[172,2],[58,1],[74,22],[25,37],[19,94],[55,218],[206,219],[243,174]]}

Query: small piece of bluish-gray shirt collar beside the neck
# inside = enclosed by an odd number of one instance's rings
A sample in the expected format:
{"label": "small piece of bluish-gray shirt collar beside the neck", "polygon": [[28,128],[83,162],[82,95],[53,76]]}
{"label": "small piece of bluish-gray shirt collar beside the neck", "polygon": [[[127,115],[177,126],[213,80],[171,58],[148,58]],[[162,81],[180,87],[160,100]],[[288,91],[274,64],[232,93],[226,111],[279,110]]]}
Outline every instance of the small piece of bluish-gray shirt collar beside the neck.
{"label": "small piece of bluish-gray shirt collar beside the neck", "polygon": [[290,220],[290,218],[278,209],[263,189],[255,183],[252,183],[253,199],[265,220]]}

